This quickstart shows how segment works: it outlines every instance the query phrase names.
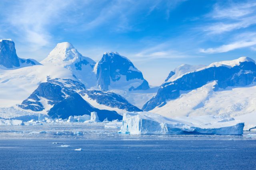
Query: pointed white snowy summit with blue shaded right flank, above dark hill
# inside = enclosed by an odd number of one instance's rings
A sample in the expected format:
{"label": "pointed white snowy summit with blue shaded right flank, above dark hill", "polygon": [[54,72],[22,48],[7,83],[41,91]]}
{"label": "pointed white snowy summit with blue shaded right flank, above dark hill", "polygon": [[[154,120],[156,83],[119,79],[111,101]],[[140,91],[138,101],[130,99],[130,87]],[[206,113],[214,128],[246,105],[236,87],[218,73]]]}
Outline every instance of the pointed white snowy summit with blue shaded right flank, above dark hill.
{"label": "pointed white snowy summit with blue shaded right flank, above dark hill", "polygon": [[82,56],[71,43],[58,43],[41,63],[53,68],[67,68],[86,88],[96,86],[96,74],[93,72],[95,61]]}

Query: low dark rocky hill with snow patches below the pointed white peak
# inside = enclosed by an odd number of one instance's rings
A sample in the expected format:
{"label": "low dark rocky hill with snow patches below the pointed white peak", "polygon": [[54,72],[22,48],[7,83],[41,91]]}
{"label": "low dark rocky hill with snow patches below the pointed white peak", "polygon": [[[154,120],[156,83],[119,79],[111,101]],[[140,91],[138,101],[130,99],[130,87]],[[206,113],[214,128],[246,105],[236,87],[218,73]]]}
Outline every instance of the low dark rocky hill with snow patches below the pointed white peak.
{"label": "low dark rocky hill with snow patches below the pointed white peak", "polygon": [[19,105],[32,111],[44,111],[52,118],[67,119],[69,116],[98,113],[100,121],[122,119],[116,111],[97,109],[86,102],[76,91],[85,90],[80,82],[70,79],[48,79]]}

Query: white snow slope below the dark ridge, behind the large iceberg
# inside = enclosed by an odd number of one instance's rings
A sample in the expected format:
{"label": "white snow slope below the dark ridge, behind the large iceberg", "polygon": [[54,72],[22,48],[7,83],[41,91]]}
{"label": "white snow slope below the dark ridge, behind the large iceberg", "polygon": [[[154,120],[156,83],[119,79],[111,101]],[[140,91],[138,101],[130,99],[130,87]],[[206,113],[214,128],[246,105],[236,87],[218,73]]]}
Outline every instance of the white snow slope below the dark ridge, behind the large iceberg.
{"label": "white snow slope below the dark ridge, behind the large iceberg", "polygon": [[192,119],[201,115],[233,117],[245,123],[244,130],[256,126],[256,86],[226,88],[214,91],[215,81],[182,94],[175,100],[166,101],[162,107],[150,112],[165,117],[186,116]]}

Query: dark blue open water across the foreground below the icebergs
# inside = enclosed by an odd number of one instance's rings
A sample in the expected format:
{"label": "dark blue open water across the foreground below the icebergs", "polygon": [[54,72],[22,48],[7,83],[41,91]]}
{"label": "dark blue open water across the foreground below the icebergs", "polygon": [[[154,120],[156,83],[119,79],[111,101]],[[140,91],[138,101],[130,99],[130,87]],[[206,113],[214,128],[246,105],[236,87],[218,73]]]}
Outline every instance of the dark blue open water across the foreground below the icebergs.
{"label": "dark blue open water across the foreground below the icebergs", "polygon": [[256,140],[0,140],[1,170],[256,169],[255,156]]}

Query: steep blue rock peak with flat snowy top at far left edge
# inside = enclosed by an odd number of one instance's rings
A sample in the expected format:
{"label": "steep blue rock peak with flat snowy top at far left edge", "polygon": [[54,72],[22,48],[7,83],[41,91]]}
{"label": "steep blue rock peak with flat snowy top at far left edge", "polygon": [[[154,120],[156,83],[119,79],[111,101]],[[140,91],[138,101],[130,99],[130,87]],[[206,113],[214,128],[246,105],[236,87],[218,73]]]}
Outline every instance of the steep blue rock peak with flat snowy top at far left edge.
{"label": "steep blue rock peak with flat snowy top at far left edge", "polygon": [[11,70],[33,65],[40,65],[40,63],[33,59],[19,58],[14,42],[11,39],[0,39],[0,68]]}

